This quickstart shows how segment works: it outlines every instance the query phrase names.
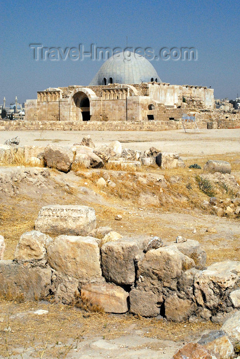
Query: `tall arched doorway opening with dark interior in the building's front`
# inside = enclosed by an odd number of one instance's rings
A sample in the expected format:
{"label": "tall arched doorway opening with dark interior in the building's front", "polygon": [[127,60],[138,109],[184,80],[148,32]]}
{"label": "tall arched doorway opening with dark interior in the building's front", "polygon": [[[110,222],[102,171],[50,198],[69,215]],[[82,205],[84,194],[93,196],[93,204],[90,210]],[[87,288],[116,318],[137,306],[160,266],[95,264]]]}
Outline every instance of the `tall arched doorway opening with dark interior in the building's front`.
{"label": "tall arched doorway opening with dark interior in the building's front", "polygon": [[71,121],[90,121],[90,102],[86,93],[79,91],[72,96]]}

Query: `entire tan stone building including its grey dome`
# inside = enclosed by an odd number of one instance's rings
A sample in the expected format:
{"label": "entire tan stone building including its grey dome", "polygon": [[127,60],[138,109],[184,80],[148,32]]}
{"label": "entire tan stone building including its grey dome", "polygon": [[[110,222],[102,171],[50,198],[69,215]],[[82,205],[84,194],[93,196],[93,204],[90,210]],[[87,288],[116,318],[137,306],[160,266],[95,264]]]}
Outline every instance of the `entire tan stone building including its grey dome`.
{"label": "entire tan stone building including its grey dome", "polygon": [[213,89],[163,83],[152,64],[132,52],[110,57],[89,86],[50,87],[25,103],[28,121],[74,122],[162,121],[169,109],[188,105],[213,109]]}

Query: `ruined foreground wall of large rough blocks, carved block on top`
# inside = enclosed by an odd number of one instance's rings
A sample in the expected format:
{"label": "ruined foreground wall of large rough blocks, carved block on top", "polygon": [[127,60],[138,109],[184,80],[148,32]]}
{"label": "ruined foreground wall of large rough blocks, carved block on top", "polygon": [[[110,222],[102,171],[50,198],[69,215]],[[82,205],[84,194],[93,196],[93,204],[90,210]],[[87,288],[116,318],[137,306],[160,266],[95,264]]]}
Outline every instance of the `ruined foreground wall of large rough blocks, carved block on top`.
{"label": "ruined foreground wall of large rough blocks, carved block on top", "polygon": [[53,295],[66,304],[83,296],[106,312],[174,322],[223,322],[240,308],[240,262],[206,268],[206,253],[196,241],[178,238],[166,245],[158,237],[127,238],[96,228],[90,207],[43,207],[13,261],[3,260],[4,246],[1,238],[1,295]]}

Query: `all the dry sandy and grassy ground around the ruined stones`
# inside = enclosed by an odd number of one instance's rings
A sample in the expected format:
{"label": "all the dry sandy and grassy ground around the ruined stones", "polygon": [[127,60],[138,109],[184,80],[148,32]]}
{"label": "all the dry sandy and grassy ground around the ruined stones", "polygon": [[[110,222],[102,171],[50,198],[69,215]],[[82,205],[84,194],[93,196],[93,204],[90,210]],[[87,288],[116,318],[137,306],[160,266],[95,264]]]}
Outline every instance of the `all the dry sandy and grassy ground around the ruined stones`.
{"label": "all the dry sandy and grassy ground around the ruined stones", "polygon": [[[118,190],[99,189],[97,178],[101,170],[65,174],[51,170],[51,176],[41,190],[34,185],[21,184],[17,195],[0,196],[1,234],[6,240],[5,259],[12,259],[19,236],[33,229],[41,207],[47,204],[83,204],[96,211],[97,227],[110,226],[130,237],[159,236],[173,242],[177,235],[194,239],[207,252],[207,265],[227,259],[240,260],[240,222],[237,217],[217,217],[189,203],[165,206],[140,206],[138,196],[144,184],[134,192],[128,182],[139,176],[197,174],[188,165],[201,166],[207,159],[225,159],[232,165],[233,174],[240,178],[240,129],[201,130],[201,133],[182,131],[162,132],[75,132],[34,131],[0,132],[0,143],[18,135],[20,145],[47,145],[50,142],[72,144],[91,135],[94,143],[122,142],[123,148],[140,150],[154,146],[168,152],[178,152],[187,158],[185,169],[170,172],[157,166],[139,173],[109,174]],[[224,156],[223,156],[224,155]],[[115,176],[115,177],[114,177]],[[121,177],[122,176],[122,177]],[[119,180],[119,178],[122,178]],[[238,182],[239,183],[239,182]],[[142,187],[140,187],[142,186]],[[147,188],[147,187],[146,187]],[[159,189],[156,189],[159,190]],[[180,188],[179,188],[180,191]],[[128,193],[129,192],[129,193]],[[207,196],[197,192],[199,201]],[[122,221],[115,221],[121,214]],[[206,232],[207,228],[215,228]],[[196,233],[193,233],[193,230]],[[34,314],[38,309],[48,312]],[[10,326],[11,330],[6,331]],[[143,318],[130,314],[92,313],[59,306],[51,302],[16,303],[10,298],[0,300],[0,358],[122,358],[170,359],[184,343],[196,342],[206,331],[218,329],[215,323],[171,323],[163,318]],[[2,355],[2,356],[1,356]]]}

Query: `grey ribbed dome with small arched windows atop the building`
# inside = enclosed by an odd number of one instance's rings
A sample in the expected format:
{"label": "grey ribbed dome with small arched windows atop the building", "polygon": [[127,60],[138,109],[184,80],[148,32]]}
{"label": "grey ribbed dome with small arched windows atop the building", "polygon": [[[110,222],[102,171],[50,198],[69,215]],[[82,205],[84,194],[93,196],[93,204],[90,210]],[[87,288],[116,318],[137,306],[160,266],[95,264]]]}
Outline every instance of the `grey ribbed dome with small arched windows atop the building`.
{"label": "grey ribbed dome with small arched windows atop the building", "polygon": [[115,54],[101,66],[90,86],[162,82],[152,64],[143,56],[127,51]]}

